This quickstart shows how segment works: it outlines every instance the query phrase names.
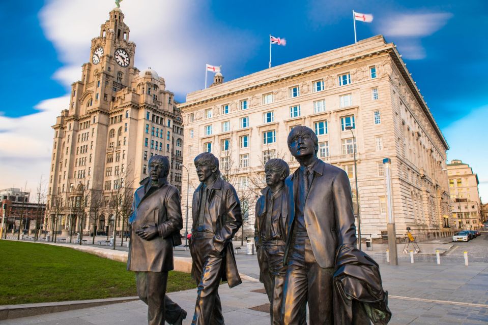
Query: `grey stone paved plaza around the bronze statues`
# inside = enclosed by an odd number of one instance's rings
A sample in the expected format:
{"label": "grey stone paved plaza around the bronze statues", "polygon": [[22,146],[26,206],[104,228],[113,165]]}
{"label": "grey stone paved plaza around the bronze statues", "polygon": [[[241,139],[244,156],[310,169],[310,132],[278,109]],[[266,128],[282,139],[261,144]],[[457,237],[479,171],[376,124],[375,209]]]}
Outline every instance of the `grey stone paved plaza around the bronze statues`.
{"label": "grey stone paved plaza around the bronze statues", "polygon": [[[468,243],[439,240],[426,245],[429,246],[421,246],[422,249],[432,246],[435,250],[434,246],[439,245],[452,247],[445,256],[441,256],[441,265],[437,265],[435,256],[430,258],[428,254],[423,257],[416,254],[416,262],[411,264],[408,255],[399,252],[399,265],[390,266],[383,261],[384,253],[380,245],[370,251],[372,256],[377,256],[375,258],[380,264],[384,288],[388,290],[389,306],[393,314],[390,324],[488,323],[488,261],[471,262],[471,259],[486,256],[488,236],[482,235]],[[403,245],[399,248],[403,248]],[[464,265],[465,249],[470,251],[469,266]],[[188,252],[179,247],[176,255],[188,256]],[[225,321],[228,325],[269,324],[263,285],[255,280],[259,277],[256,257],[243,253],[236,257],[239,271],[246,275],[246,280],[232,289],[226,284],[220,286]],[[169,296],[189,312],[184,324],[190,324],[196,290],[180,291]],[[133,301],[4,320],[0,324],[143,324],[146,323],[146,315],[146,305]]]}

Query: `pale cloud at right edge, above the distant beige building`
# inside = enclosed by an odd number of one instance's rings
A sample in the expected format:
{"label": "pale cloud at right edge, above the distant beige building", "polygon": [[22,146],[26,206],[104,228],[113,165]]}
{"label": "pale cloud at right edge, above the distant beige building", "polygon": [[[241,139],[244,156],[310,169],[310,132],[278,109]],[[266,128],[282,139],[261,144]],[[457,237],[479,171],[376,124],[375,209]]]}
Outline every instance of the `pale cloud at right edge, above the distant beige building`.
{"label": "pale cloud at right edge, above the distant beige building", "polygon": [[451,148],[447,152],[448,160],[461,159],[478,174],[479,195],[484,202],[488,202],[488,152],[485,150],[487,119],[488,106],[483,106],[443,129]]}

